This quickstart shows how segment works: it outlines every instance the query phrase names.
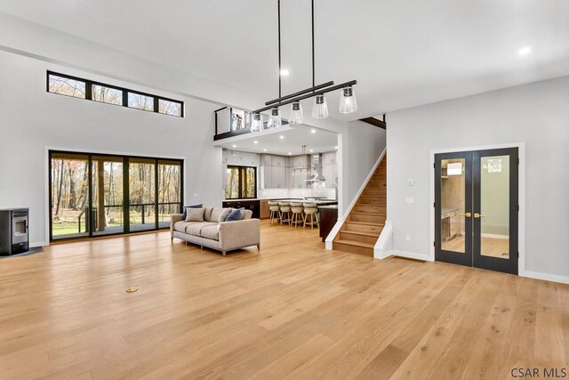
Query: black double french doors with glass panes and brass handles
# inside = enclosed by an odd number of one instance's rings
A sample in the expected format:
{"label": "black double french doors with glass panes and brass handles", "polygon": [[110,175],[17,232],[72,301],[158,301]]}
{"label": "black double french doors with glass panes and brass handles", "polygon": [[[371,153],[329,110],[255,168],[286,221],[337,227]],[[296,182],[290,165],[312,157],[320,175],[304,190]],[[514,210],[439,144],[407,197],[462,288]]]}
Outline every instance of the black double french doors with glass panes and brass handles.
{"label": "black double french doors with glass panes and brass handles", "polygon": [[518,150],[435,156],[435,258],[517,274]]}

